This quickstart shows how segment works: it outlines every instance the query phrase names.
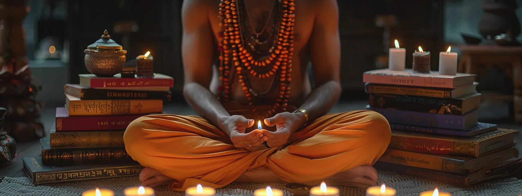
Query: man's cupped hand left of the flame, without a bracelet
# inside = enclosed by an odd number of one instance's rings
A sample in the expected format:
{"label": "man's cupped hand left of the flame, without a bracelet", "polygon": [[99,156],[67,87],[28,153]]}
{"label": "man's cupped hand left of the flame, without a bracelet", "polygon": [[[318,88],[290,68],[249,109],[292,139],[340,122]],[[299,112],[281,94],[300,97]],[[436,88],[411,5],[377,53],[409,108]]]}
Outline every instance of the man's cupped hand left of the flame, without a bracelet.
{"label": "man's cupped hand left of the flame, without a bracelet", "polygon": [[230,136],[230,140],[236,148],[255,147],[263,144],[263,133],[256,129],[250,133],[245,133],[246,128],[254,125],[254,120],[246,119],[243,116],[234,115],[223,122],[224,132]]}

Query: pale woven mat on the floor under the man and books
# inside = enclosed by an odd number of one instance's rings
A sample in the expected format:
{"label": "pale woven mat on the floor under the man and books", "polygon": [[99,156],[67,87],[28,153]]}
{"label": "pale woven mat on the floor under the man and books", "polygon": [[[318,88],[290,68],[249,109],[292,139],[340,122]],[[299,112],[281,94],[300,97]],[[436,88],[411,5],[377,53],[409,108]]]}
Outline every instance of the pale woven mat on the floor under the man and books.
{"label": "pale woven mat on the floor under the man and books", "polygon": [[[488,183],[480,187],[472,189],[456,188],[442,183],[433,182],[429,180],[401,176],[392,172],[379,172],[379,184],[385,183],[389,187],[397,189],[397,195],[412,195],[418,196],[420,192],[432,190],[438,187],[439,190],[450,192],[453,196],[458,195],[502,195],[502,196],[517,196],[522,194],[522,180],[508,179],[495,183]],[[81,192],[92,188],[105,188],[114,191],[115,195],[123,195],[123,189],[126,187],[139,186],[138,177],[100,179],[100,180],[85,180],[74,182],[51,183],[44,185],[33,185],[29,178],[9,178],[0,177],[0,195],[40,195],[40,196],[55,196],[55,195],[81,195]],[[254,190],[271,186],[273,188],[282,189],[283,183],[275,184],[251,184],[251,183],[232,183],[229,186],[217,190],[217,196],[231,196],[231,195],[253,195]],[[167,189],[167,186],[155,188],[156,195],[162,196],[183,196],[182,192],[175,192]],[[364,195],[362,189],[353,187],[340,187],[340,195]],[[285,195],[292,195],[290,192],[284,190]]]}

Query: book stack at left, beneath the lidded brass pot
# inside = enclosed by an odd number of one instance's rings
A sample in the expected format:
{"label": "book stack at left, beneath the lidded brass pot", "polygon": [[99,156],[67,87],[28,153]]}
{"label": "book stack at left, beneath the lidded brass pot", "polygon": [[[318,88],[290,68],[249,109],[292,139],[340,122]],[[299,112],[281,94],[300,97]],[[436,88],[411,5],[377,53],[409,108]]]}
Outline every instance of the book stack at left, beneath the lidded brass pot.
{"label": "book stack at left, beneath the lidded brass pot", "polygon": [[65,107],[42,142],[42,157],[23,157],[35,184],[139,175],[141,167],[125,151],[123,134],[139,117],[163,112],[173,78],[103,78],[80,74],[65,85]]}

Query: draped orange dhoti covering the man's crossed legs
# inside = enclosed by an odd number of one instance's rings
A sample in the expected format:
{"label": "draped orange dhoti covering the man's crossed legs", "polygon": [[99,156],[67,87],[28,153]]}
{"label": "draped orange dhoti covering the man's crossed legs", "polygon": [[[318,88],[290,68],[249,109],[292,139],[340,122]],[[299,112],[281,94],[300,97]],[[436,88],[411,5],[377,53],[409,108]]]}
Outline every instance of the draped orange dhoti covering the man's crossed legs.
{"label": "draped orange dhoti covering the man's crossed legs", "polygon": [[286,182],[316,185],[339,172],[373,165],[390,137],[388,121],[363,110],[325,114],[293,133],[281,148],[236,148],[207,120],[172,114],[133,121],[124,141],[133,159],[176,179],[169,188],[184,191],[198,183],[220,188],[260,166]]}

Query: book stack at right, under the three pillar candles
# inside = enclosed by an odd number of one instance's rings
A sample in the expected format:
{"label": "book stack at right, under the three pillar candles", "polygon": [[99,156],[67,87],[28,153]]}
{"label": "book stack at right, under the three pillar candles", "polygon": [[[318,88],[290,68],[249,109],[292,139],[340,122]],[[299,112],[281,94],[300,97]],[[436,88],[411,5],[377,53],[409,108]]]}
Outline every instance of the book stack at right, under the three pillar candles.
{"label": "book stack at right, under the three pillar candles", "polygon": [[370,105],[392,138],[376,168],[456,186],[522,176],[515,130],[478,122],[481,94],[473,74],[387,69],[363,75]]}

